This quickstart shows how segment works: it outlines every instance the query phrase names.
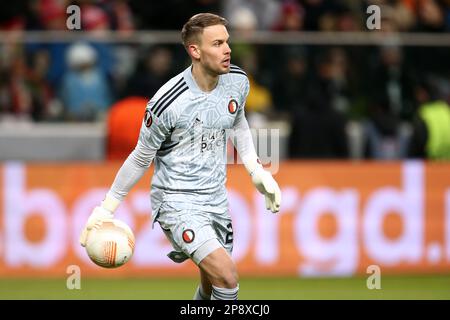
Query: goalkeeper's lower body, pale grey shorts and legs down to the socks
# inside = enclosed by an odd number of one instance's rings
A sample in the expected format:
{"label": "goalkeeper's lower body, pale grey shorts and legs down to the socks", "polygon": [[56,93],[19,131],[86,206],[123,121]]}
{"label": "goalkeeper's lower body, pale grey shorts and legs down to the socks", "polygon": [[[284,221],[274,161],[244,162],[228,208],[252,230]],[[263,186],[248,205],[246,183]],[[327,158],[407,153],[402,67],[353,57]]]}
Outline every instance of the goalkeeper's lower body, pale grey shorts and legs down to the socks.
{"label": "goalkeeper's lower body, pale grey shorts and legs down to the socks", "polygon": [[[237,299],[237,271],[230,256],[231,219],[214,218],[201,210],[176,210],[178,203],[172,205],[175,209],[169,203],[165,205],[160,209],[158,222],[175,249],[168,254],[169,258],[178,263],[191,258],[201,270],[201,291],[205,288],[207,293],[211,292],[212,299]],[[203,292],[199,290],[198,297],[200,293]]]}

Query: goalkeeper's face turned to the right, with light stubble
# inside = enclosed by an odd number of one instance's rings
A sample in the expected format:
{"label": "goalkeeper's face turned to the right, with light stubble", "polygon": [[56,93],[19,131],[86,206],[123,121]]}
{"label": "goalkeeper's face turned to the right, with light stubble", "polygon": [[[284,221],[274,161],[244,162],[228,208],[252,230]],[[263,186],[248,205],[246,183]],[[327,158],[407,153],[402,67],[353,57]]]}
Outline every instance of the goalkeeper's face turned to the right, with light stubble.
{"label": "goalkeeper's face turned to the right, with light stubble", "polygon": [[203,29],[199,49],[200,63],[205,69],[216,74],[230,71],[229,38],[227,28],[221,24]]}

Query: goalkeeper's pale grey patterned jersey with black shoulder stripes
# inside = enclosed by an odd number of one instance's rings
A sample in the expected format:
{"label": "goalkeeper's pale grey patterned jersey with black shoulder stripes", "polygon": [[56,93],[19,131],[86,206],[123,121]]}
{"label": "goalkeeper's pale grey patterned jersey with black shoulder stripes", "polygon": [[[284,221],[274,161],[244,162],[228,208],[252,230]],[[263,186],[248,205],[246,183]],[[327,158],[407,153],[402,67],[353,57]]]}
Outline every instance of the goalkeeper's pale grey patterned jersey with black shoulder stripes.
{"label": "goalkeeper's pale grey patterned jersey with black shoulder stripes", "polygon": [[[231,66],[211,92],[203,92],[191,68],[169,80],[147,104],[139,141],[119,170],[109,195],[123,200],[154,160],[154,216],[165,201],[182,207],[227,211],[226,141],[235,132],[242,157],[255,153],[244,105],[249,82]],[[255,153],[256,154],[256,153]]]}

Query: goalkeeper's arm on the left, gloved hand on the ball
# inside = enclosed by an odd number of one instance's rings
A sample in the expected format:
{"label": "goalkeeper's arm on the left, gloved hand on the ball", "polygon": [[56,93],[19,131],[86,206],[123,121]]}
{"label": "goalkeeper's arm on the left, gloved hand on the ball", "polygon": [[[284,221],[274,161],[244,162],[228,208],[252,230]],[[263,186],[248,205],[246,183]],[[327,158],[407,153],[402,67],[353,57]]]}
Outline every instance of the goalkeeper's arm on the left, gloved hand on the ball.
{"label": "goalkeeper's arm on the left, gloved hand on the ball", "polygon": [[86,245],[88,232],[98,221],[114,217],[117,207],[150,167],[162,142],[171,134],[171,128],[176,118],[174,111],[167,110],[158,118],[152,110],[155,102],[156,100],[152,99],[147,105],[135,149],[117,172],[105,199],[99,206],[94,208],[89,216],[86,226],[80,235],[80,244],[82,246]]}

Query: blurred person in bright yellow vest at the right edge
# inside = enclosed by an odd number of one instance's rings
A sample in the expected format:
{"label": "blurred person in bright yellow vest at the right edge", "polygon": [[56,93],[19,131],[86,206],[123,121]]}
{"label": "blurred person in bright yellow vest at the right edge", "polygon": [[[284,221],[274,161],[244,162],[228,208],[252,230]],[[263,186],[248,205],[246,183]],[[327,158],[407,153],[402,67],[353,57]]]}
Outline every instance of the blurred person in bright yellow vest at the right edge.
{"label": "blurred person in bright yellow vest at the right edge", "polygon": [[427,77],[415,88],[419,109],[413,123],[409,157],[450,160],[450,105],[437,79]]}

